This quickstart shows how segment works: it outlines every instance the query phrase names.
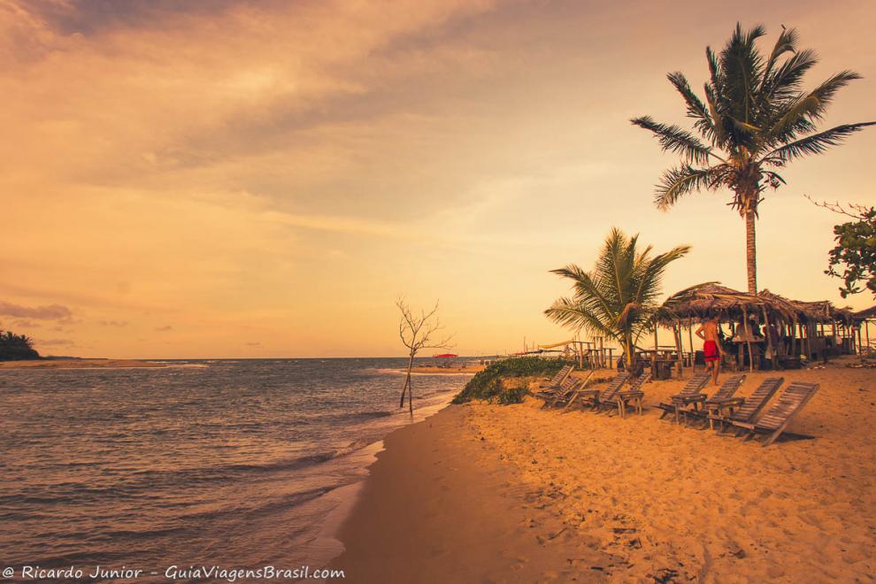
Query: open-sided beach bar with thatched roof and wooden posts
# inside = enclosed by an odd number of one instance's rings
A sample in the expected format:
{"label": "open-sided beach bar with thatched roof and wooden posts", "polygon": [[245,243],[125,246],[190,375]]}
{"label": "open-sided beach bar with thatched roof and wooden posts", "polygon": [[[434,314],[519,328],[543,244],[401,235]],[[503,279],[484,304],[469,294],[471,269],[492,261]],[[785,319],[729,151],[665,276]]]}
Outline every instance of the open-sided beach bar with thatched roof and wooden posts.
{"label": "open-sided beach bar with thatched roof and wooden posts", "polygon": [[[749,370],[765,364],[772,369],[799,367],[801,356],[807,360],[826,360],[857,353],[862,346],[859,327],[862,319],[826,300],[790,300],[769,290],[752,295],[710,283],[681,290],[661,306],[654,319],[655,356],[657,327],[671,329],[676,347],[674,365],[682,375],[686,365],[693,367],[697,361],[694,327],[713,316],[730,325],[735,359],[728,365],[737,369],[744,368],[746,360]],[[687,356],[682,350],[685,328],[690,344]],[[657,365],[657,357],[652,357],[652,364]]]}

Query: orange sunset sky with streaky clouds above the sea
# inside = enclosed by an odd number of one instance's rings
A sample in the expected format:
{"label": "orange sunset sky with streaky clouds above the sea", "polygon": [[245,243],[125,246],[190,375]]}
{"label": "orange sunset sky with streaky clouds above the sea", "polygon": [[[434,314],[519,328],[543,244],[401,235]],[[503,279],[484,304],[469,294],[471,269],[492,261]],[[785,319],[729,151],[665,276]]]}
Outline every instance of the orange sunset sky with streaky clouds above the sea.
{"label": "orange sunset sky with streaky clouds above the sea", "polygon": [[[823,2],[0,0],[0,328],[43,354],[403,354],[396,298],[440,299],[465,355],[559,342],[543,310],[611,227],[682,243],[668,294],[744,289],[727,193],[652,204],[737,21],[796,27],[864,76],[825,127],[876,119],[876,5]],[[841,216],[876,204],[876,129],[789,165],[760,207],[758,284],[842,300]]]}

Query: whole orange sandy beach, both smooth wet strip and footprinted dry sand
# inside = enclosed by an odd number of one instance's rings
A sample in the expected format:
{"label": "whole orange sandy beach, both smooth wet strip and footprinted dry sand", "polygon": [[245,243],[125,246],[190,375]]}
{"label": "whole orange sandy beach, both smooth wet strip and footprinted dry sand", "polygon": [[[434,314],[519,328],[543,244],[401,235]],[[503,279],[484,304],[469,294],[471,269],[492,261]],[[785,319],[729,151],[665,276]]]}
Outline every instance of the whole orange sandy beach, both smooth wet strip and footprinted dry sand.
{"label": "whole orange sandy beach, both smooth wet strip and footprinted dry sand", "polygon": [[778,374],[820,390],[768,448],[660,419],[678,380],[628,419],[450,406],[388,436],[334,565],[361,582],[872,581],[872,371]]}

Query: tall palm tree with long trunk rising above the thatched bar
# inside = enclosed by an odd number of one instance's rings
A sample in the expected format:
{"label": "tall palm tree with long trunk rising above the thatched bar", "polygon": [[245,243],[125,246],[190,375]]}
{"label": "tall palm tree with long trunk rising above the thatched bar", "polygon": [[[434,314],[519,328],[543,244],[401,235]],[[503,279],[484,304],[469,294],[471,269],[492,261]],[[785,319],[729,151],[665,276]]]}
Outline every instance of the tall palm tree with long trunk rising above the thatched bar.
{"label": "tall palm tree with long trunk rising above the thatched bar", "polygon": [[733,191],[730,206],[745,219],[745,257],[749,292],[757,294],[755,219],[767,187],[779,188],[780,169],[796,158],[820,154],[843,138],[876,122],[843,124],[815,133],[836,92],[860,79],[851,71],[836,73],[809,92],[801,89],[803,75],[818,62],[812,50],[797,50],[797,34],[782,27],[768,56],[755,42],[764,27],[733,37],[719,55],[706,48],[710,80],[705,101],[681,73],[669,73],[672,86],[694,119],[697,137],[679,126],[659,124],[649,116],[630,121],[654,133],[663,150],[672,150],[682,163],[663,174],[654,202],[666,210],[681,196],[701,189]]}

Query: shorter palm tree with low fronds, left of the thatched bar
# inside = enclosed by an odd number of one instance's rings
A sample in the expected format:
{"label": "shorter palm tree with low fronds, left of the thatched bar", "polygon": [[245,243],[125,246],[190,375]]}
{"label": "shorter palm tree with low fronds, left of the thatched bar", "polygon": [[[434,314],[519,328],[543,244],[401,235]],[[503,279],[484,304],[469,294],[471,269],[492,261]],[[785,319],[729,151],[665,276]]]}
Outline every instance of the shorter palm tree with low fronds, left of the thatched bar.
{"label": "shorter palm tree with low fronds, left of the thatched bar", "polygon": [[651,329],[666,266],[690,250],[682,245],[651,257],[651,246],[636,249],[638,239],[638,234],[627,237],[615,227],[605,239],[593,271],[585,272],[574,264],[551,270],[572,280],[573,295],[557,299],[544,311],[549,319],[566,327],[615,339],[629,366],[633,365],[635,343]]}

